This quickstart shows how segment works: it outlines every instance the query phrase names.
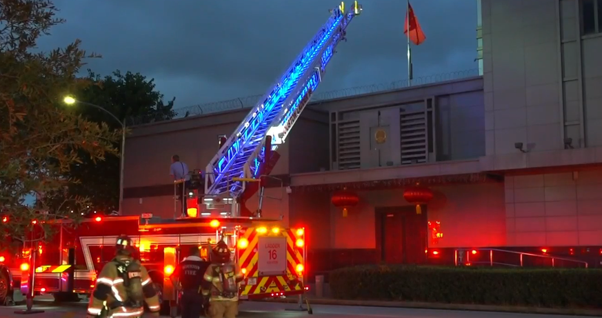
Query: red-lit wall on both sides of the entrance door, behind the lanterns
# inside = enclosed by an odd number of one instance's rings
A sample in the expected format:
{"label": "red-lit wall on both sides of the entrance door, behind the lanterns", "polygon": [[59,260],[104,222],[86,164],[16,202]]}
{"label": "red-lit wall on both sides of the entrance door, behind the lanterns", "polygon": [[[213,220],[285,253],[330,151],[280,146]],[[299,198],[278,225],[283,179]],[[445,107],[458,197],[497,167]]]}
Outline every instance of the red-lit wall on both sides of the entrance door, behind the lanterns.
{"label": "red-lit wall on both sides of the entrance door, behind the lanterns", "polygon": [[[505,246],[506,224],[504,186],[483,183],[432,188],[435,197],[428,205],[428,219],[441,221],[444,238],[429,247]],[[312,192],[291,196],[292,225],[310,228],[312,248],[365,248],[376,246],[374,209],[409,206],[403,189],[360,191],[359,205],[350,208],[348,217],[330,204],[330,194]],[[312,201],[303,198],[312,197]]]}

